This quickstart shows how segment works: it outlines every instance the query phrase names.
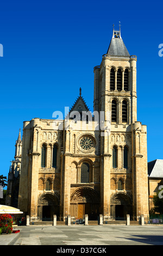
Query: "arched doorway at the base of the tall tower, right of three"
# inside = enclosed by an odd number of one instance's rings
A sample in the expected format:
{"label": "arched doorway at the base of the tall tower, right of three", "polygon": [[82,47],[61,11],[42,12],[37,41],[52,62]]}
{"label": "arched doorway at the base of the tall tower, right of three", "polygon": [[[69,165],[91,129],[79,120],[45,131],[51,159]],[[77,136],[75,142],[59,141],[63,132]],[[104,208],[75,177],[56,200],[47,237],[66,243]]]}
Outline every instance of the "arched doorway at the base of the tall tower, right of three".
{"label": "arched doorway at the base of the tall tower, right of three", "polygon": [[110,201],[110,213],[114,220],[126,220],[127,214],[133,219],[131,198],[123,192],[115,193]]}

